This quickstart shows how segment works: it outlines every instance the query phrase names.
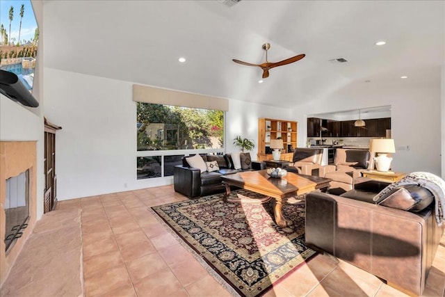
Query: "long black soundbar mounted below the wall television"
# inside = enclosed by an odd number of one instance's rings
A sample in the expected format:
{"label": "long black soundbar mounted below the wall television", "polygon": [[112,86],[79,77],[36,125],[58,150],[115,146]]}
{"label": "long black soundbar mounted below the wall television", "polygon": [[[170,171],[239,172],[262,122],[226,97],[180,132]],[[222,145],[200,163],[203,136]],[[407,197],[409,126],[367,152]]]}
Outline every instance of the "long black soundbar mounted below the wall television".
{"label": "long black soundbar mounted below the wall television", "polygon": [[39,102],[13,72],[0,70],[0,93],[25,106],[39,106]]}

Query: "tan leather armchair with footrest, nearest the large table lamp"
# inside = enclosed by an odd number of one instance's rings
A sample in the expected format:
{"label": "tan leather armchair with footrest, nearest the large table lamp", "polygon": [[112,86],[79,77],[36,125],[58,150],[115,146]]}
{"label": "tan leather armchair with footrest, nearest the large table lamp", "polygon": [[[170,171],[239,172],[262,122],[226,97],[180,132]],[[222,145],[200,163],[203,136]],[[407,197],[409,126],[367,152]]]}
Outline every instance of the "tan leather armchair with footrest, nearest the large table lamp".
{"label": "tan leather armchair with footrest, nearest the large table lamp", "polygon": [[354,181],[369,167],[369,150],[335,150],[334,165],[321,166],[319,175],[332,179],[330,193],[341,194],[354,188]]}

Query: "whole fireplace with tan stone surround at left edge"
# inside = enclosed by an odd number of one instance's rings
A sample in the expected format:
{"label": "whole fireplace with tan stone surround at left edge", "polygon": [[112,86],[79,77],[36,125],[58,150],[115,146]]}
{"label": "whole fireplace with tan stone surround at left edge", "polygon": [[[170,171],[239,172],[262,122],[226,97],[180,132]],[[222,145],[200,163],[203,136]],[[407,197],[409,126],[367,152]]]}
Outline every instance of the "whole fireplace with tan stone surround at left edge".
{"label": "whole fireplace with tan stone surround at left edge", "polygon": [[37,220],[36,141],[0,141],[0,168],[1,287]]}

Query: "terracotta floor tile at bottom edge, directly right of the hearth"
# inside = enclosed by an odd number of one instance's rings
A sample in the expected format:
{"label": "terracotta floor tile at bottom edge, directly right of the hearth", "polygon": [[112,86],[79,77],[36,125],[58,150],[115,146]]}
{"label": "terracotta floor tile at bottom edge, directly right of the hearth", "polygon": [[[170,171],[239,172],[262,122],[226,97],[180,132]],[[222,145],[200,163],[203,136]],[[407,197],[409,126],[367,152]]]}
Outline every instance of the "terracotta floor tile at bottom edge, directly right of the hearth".
{"label": "terracotta floor tile at bottom edge, directly right of the hearth", "polygon": [[86,296],[109,295],[111,291],[131,285],[124,265],[99,271],[85,280]]}

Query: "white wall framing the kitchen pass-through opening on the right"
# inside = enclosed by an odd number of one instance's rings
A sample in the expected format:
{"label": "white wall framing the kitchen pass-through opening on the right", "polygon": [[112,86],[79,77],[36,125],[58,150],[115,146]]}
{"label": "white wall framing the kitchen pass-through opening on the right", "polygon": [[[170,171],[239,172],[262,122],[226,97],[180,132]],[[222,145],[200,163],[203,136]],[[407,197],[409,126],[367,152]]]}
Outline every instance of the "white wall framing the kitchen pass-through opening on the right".
{"label": "white wall framing the kitchen pass-through opening on the right", "polygon": [[427,171],[441,175],[440,82],[415,84],[401,81],[355,83],[330,96],[294,109],[298,120],[298,146],[304,146],[307,115],[372,106],[391,105],[391,134],[396,143],[392,168],[396,171]]}

